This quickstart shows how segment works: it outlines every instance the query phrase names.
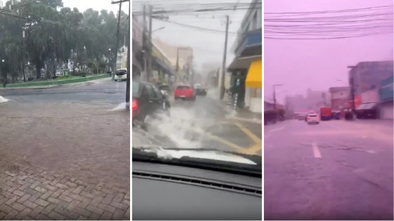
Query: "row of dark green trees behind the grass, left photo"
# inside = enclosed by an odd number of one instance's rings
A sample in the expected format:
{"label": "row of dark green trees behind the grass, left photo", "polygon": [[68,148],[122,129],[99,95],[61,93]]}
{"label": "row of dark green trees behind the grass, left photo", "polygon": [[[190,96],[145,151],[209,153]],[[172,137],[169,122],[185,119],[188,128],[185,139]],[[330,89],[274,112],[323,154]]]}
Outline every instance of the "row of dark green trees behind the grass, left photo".
{"label": "row of dark green trees behind the grass, left photo", "polygon": [[[37,79],[41,78],[42,69],[49,78],[56,74],[56,67],[67,67],[70,62],[72,70],[89,67],[94,72],[105,72],[108,60],[114,60],[117,15],[112,11],[90,8],[82,13],[77,8],[63,7],[62,0],[11,1],[0,9],[3,82],[7,76],[13,80],[23,76],[26,80],[25,70],[30,67]],[[120,46],[123,39],[129,41],[127,19],[128,15],[122,11]]]}

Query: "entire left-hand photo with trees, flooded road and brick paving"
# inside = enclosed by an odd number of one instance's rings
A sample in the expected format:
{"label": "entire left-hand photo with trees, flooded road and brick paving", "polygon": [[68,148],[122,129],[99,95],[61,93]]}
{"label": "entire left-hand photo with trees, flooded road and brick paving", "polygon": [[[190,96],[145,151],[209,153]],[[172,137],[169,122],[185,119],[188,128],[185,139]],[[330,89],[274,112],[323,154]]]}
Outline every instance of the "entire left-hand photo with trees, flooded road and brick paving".
{"label": "entire left-hand photo with trees, flooded road and brick paving", "polygon": [[0,0],[1,220],[130,220],[129,6]]}

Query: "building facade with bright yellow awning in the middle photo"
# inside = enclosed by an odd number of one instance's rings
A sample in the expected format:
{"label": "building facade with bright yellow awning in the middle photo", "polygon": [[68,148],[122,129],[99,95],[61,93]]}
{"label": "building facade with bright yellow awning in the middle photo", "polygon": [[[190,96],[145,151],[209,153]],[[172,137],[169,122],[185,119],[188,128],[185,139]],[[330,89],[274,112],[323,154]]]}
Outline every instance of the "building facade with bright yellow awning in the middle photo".
{"label": "building facade with bright yellow awning in the middle photo", "polygon": [[[231,48],[235,58],[227,67],[231,72],[231,85],[239,94],[238,107],[262,112],[262,1],[253,0]],[[260,108],[259,108],[260,107]]]}

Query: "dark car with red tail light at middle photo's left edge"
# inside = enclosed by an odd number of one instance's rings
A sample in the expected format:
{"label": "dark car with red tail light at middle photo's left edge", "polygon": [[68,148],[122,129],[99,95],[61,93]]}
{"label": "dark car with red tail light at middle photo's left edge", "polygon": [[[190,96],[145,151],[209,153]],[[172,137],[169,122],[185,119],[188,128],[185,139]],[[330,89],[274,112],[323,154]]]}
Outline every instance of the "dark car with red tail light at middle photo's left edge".
{"label": "dark car with red tail light at middle photo's left edge", "polygon": [[152,83],[132,82],[132,125],[146,126],[146,116],[170,115],[170,101]]}

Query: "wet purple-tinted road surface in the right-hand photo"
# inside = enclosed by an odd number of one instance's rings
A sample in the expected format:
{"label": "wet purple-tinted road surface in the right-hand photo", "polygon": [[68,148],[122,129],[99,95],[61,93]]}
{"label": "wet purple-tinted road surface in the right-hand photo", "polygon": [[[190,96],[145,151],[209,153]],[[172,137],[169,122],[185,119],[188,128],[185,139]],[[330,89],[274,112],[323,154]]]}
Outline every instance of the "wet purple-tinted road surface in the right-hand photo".
{"label": "wet purple-tinted road surface in the right-hand photo", "polygon": [[393,121],[264,131],[266,220],[393,220]]}

